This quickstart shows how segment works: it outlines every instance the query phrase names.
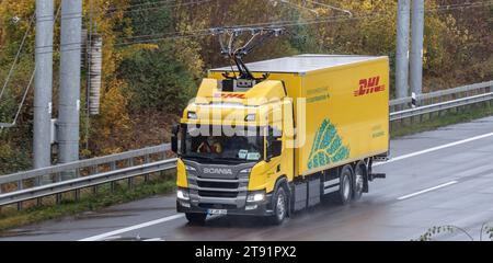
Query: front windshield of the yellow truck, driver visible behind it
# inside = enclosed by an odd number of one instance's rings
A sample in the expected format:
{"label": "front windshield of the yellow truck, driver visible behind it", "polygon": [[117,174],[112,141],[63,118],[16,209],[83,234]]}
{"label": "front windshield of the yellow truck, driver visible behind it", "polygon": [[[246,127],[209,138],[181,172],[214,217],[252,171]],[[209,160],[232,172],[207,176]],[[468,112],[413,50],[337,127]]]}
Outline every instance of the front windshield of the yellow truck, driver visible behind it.
{"label": "front windshield of the yellow truck, driver visible behind it", "polygon": [[220,127],[185,125],[182,130],[184,158],[257,162],[264,157],[264,137],[257,127],[236,127],[234,133],[225,133]]}

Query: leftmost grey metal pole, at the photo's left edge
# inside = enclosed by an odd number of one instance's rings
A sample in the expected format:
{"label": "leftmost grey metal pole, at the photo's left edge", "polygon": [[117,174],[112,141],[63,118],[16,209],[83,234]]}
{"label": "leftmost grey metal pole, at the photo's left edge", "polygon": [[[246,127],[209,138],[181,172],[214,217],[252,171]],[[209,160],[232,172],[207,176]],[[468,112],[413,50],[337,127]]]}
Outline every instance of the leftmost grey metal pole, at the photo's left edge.
{"label": "leftmost grey metal pole, at the photo's left edge", "polygon": [[36,0],[36,55],[34,84],[34,169],[51,165],[51,99],[54,1]]}

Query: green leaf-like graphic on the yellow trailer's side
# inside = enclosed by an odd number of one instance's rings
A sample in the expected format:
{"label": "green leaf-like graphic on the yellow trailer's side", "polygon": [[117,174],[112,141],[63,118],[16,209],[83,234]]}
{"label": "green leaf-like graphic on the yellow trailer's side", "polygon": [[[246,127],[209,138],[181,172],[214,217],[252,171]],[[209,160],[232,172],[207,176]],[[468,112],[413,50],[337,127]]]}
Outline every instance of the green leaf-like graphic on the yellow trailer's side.
{"label": "green leaf-like graphic on the yellow trailer's side", "polygon": [[348,146],[342,145],[342,138],[337,134],[337,128],[329,119],[324,119],[313,140],[310,157],[308,158],[308,169],[316,169],[345,160],[349,157],[349,151]]}

